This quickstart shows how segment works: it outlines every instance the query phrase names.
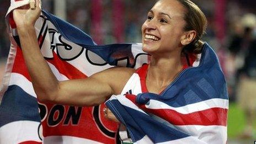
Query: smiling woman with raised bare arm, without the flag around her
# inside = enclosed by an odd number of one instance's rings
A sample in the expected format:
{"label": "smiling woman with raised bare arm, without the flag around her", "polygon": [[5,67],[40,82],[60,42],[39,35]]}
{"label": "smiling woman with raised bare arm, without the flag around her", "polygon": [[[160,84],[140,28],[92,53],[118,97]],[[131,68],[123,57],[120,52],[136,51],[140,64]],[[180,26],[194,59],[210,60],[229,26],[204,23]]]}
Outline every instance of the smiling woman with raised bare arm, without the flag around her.
{"label": "smiling woman with raised bare arm, without the flag around her", "polygon": [[[36,39],[34,24],[41,12],[39,3],[36,0],[34,10],[27,6],[13,12],[23,56],[39,100],[92,106],[104,103],[113,94],[124,94],[126,82],[136,72],[132,68],[110,68],[87,79],[57,81]],[[153,6],[142,25],[143,51],[151,54],[150,65],[138,70],[146,74],[146,90],[140,89],[142,92],[161,93],[186,68],[182,62],[184,54],[201,52],[200,38],[206,23],[205,15],[189,0],[160,0]],[[115,120],[109,110],[106,117]]]}

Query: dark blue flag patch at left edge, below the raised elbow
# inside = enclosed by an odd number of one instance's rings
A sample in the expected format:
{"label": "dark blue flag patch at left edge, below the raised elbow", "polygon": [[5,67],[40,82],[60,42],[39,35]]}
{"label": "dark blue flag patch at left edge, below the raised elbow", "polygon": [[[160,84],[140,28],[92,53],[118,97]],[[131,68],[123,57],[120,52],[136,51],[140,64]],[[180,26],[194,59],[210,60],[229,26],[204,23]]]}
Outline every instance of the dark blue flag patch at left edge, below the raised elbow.
{"label": "dark blue flag patch at left edge, below the raised elbow", "polygon": [[13,121],[41,122],[38,100],[18,86],[9,86],[0,106],[0,127]]}

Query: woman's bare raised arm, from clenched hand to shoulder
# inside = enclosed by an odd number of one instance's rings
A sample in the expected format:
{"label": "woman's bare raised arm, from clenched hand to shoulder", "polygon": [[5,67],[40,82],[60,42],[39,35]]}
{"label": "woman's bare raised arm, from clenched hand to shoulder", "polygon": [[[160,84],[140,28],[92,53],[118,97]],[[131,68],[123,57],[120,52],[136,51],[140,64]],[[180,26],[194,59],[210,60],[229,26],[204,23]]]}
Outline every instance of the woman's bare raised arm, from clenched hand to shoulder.
{"label": "woman's bare raised arm, from clenched hand to shoulder", "polygon": [[13,11],[23,56],[38,99],[43,102],[90,106],[103,103],[111,94],[120,93],[134,70],[111,68],[87,79],[57,81],[41,54],[36,38],[34,24],[41,13],[39,3],[36,0],[34,10],[28,5]]}

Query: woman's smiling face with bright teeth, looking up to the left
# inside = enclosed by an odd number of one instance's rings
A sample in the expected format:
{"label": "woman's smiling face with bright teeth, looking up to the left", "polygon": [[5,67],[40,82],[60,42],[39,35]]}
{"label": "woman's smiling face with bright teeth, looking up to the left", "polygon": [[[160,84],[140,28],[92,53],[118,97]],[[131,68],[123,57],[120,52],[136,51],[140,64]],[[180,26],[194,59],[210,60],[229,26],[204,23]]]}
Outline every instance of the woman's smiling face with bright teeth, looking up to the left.
{"label": "woman's smiling face with bright teeth, looking up to the left", "polygon": [[148,12],[142,25],[143,51],[149,54],[167,54],[181,51],[184,36],[185,8],[176,0],[161,0]]}

